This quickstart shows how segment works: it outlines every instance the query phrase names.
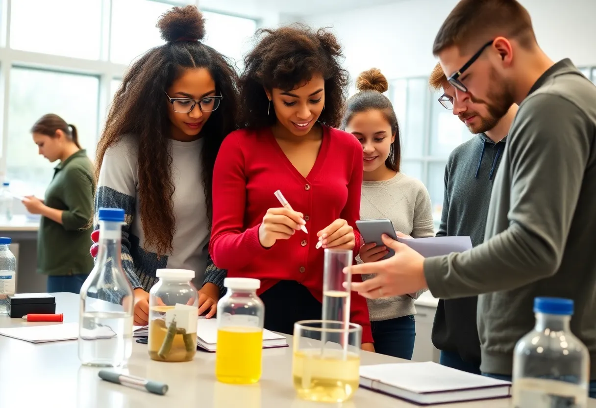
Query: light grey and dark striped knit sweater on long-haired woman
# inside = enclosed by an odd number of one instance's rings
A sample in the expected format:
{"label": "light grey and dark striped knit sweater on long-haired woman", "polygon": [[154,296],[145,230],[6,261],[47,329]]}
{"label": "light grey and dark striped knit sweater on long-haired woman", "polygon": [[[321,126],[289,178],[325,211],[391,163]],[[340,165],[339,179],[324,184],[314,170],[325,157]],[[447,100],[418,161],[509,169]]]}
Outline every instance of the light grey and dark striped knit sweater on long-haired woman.
{"label": "light grey and dark striped knit sweater on long-haired woman", "polygon": [[[203,140],[184,143],[172,140],[172,181],[174,183],[174,216],[176,220],[171,254],[157,256],[147,248],[139,214],[137,157],[138,142],[125,135],[105,152],[95,195],[94,229],[99,229],[99,208],[122,208],[122,267],[134,289],[147,292],[156,283],[159,268],[190,269],[195,272],[194,285],[201,288],[206,276],[221,286],[225,271],[218,270],[209,254],[209,220],[201,180],[200,153]],[[207,274],[206,274],[207,271]],[[221,280],[221,282],[219,282]]]}

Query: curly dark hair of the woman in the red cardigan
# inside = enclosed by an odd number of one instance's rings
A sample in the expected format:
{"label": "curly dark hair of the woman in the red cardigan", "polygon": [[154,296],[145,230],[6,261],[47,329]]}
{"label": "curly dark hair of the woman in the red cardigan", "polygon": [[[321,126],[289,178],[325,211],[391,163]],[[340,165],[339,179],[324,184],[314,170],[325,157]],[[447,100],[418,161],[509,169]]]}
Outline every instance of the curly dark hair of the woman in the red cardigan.
{"label": "curly dark hair of the woman in the red cardigan", "polygon": [[304,24],[260,29],[256,34],[263,37],[244,57],[244,72],[238,82],[240,127],[274,125],[275,115],[267,115],[269,99],[265,88],[291,91],[316,74],[325,80],[325,109],[318,120],[324,125],[339,126],[349,75],[340,66],[343,54],[336,37],[327,29],[315,32]]}

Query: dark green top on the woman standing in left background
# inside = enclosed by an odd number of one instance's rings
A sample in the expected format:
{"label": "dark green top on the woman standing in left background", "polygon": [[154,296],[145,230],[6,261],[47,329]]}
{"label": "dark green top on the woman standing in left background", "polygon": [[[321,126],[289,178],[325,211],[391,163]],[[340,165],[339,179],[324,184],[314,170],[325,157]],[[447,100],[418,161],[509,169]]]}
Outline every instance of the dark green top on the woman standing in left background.
{"label": "dark green top on the woman standing in left background", "polygon": [[62,224],[42,217],[38,233],[38,273],[52,276],[88,274],[93,211],[93,164],[79,150],[55,168],[44,203],[62,210]]}

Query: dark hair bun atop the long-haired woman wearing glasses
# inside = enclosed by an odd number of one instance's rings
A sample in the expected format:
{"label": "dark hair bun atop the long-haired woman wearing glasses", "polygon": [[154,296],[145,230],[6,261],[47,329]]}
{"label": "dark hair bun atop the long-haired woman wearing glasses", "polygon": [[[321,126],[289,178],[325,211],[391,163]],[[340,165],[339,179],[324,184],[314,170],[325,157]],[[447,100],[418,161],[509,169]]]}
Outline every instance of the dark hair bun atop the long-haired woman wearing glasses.
{"label": "dark hair bun atop the long-haired woman wearing glasses", "polygon": [[157,20],[157,28],[167,42],[202,40],[205,18],[194,5],[173,7]]}

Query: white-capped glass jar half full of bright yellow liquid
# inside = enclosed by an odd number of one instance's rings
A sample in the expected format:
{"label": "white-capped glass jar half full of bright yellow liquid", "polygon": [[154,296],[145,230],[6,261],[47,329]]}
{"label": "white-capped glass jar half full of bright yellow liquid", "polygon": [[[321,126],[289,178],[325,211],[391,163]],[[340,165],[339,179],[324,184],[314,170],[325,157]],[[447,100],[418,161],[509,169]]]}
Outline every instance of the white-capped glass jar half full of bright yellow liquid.
{"label": "white-capped glass jar half full of bright yellow liquid", "polygon": [[260,280],[225,278],[218,302],[215,376],[228,384],[253,384],[261,376],[265,305],[257,296]]}

